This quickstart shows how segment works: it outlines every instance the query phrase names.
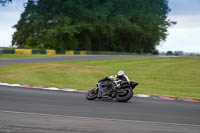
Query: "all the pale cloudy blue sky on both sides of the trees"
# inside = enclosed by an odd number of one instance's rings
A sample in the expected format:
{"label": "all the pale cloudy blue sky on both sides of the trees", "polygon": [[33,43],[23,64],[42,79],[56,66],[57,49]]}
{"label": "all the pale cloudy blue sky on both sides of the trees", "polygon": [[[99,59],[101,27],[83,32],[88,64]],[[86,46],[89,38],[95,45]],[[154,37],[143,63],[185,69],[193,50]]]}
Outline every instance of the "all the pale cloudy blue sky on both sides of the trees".
{"label": "all the pale cloudy blue sky on both sides of the trees", "polygon": [[[11,46],[12,28],[24,11],[27,0],[13,0],[13,3],[0,6],[0,47]],[[166,41],[157,47],[159,51],[184,51],[200,53],[200,0],[169,0],[171,12],[168,19],[177,24],[168,29]]]}

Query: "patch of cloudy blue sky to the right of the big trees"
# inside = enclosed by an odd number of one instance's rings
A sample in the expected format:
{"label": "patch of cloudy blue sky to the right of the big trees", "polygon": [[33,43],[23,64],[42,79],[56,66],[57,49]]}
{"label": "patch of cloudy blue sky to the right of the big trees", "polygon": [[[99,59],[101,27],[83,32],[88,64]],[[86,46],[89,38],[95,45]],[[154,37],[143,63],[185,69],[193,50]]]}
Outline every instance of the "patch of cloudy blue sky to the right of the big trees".
{"label": "patch of cloudy blue sky to the right of the big trees", "polygon": [[168,29],[168,37],[159,51],[200,53],[200,0],[169,0],[168,19],[177,24]]}

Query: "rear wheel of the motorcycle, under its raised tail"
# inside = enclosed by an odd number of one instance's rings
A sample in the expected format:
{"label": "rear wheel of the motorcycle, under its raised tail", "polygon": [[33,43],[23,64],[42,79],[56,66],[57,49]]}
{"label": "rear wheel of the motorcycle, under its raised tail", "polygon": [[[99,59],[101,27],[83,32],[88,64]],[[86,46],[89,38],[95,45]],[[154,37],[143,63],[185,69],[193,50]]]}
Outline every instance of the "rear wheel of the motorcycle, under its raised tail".
{"label": "rear wheel of the motorcycle, under its raised tail", "polygon": [[133,97],[133,90],[131,88],[125,88],[125,93],[119,93],[116,96],[118,102],[127,102]]}

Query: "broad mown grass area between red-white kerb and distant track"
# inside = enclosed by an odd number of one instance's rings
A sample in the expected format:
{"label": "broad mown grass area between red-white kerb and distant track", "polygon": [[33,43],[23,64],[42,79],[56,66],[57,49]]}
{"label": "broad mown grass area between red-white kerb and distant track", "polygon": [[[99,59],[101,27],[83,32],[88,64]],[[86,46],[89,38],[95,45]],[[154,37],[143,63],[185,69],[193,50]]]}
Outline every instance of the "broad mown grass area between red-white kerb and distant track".
{"label": "broad mown grass area between red-white kerb and distant track", "polygon": [[0,81],[47,87],[90,89],[123,69],[140,83],[136,93],[200,100],[200,58],[119,58],[0,67]]}

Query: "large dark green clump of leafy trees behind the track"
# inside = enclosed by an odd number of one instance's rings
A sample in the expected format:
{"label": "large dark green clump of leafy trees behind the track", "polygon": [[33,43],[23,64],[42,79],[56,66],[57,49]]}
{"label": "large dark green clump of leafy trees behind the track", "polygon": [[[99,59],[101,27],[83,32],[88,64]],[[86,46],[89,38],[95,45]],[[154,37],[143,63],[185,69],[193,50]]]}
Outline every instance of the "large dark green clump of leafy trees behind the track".
{"label": "large dark green clump of leafy trees behind the track", "polygon": [[169,11],[168,0],[28,0],[12,44],[149,53],[174,23]]}

